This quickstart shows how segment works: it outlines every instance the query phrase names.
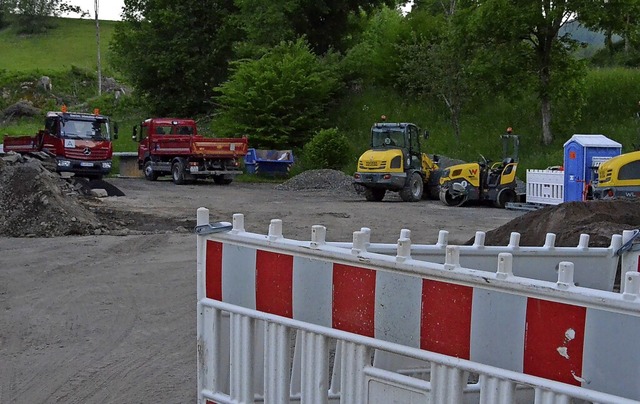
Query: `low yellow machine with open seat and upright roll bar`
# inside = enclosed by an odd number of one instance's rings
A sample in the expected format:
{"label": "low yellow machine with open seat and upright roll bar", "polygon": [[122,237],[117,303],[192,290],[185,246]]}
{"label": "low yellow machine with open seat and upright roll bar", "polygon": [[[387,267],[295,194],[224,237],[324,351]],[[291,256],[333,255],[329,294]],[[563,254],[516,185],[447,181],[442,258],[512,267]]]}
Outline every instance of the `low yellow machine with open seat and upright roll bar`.
{"label": "low yellow machine with open seat and upright roll bar", "polygon": [[507,154],[508,143],[513,141],[514,157],[504,157],[492,162],[480,155],[477,163],[465,163],[448,167],[440,176],[439,198],[447,206],[462,206],[469,201],[489,201],[498,208],[509,202],[517,202],[516,170],[519,138],[511,134],[502,135],[503,149]]}

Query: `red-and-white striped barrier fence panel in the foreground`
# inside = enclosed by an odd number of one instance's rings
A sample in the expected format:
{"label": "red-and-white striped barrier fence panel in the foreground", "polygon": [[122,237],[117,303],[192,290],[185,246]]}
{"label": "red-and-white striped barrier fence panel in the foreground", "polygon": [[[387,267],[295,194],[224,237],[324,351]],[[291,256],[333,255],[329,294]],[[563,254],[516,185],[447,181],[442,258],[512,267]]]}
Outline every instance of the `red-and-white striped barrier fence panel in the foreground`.
{"label": "red-and-white striped barrier fence panel in the foreground", "polygon": [[[351,249],[328,245],[325,232],[314,226],[310,242],[288,240],[273,220],[258,235],[234,215],[230,232],[198,237],[200,402],[640,399],[640,274],[627,273],[623,293],[612,293],[575,286],[569,262],[552,283],[514,276],[508,253],[489,273],[462,267],[457,246],[436,264],[413,259],[408,237],[392,257],[368,252],[367,232],[354,233]],[[287,366],[292,328],[302,335]],[[338,339],[331,380],[328,337]],[[390,366],[394,356],[411,360]],[[428,384],[403,368],[416,362]]]}

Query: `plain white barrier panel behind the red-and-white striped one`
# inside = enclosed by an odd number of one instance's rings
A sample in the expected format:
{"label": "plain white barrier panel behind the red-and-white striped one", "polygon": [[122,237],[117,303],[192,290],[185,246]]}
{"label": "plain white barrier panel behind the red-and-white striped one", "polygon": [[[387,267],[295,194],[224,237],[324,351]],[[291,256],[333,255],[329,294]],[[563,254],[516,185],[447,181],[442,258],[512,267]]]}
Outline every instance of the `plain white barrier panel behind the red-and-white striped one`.
{"label": "plain white barrier panel behind the red-and-white striped one", "polygon": [[[360,230],[368,234],[369,229]],[[408,231],[407,231],[408,232]],[[404,237],[408,238],[410,232]],[[401,235],[400,238],[403,238]],[[441,230],[436,244],[412,244],[411,257],[420,261],[444,263],[449,233]],[[543,246],[520,246],[520,234],[511,233],[506,246],[487,246],[485,233],[476,232],[473,245],[459,246],[460,265],[482,271],[495,272],[500,253],[510,253],[513,257],[514,275],[525,278],[555,282],[558,279],[558,265],[562,261],[573,262],[574,283],[585,288],[612,291],[618,270],[619,257],[616,252],[622,246],[622,236],[614,234],[609,247],[589,247],[589,235],[582,234],[576,247],[556,247],[556,235],[549,233]],[[365,240],[366,251],[395,255],[396,244],[369,243]],[[328,243],[335,247],[353,248],[353,243]]]}

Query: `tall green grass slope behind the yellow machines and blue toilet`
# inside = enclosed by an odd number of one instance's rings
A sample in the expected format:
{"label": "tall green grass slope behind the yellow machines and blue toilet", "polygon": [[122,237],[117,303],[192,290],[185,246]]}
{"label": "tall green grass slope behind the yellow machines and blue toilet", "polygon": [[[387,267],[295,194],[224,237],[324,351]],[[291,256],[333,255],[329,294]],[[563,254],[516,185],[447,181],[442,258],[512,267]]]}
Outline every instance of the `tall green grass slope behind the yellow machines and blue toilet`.
{"label": "tall green grass slope behind the yellow machines and blue toilet", "polygon": [[[502,158],[500,135],[508,126],[520,135],[519,176],[526,169],[544,169],[561,165],[564,143],[574,134],[603,134],[623,145],[623,152],[640,145],[640,120],[635,117],[640,100],[640,70],[592,69],[586,77],[586,105],[580,119],[572,124],[556,115],[554,142],[544,146],[538,102],[533,96],[523,99],[493,98],[479,105],[469,105],[462,117],[460,141],[454,137],[447,112],[438,100],[417,101],[397,94],[392,89],[368,89],[345,98],[331,116],[350,139],[351,158],[345,172],[355,171],[358,156],[368,148],[371,124],[386,115],[389,122],[413,122],[428,129],[430,138],[423,151],[430,154],[476,161],[483,154],[494,161]],[[564,109],[572,107],[563,106]]]}

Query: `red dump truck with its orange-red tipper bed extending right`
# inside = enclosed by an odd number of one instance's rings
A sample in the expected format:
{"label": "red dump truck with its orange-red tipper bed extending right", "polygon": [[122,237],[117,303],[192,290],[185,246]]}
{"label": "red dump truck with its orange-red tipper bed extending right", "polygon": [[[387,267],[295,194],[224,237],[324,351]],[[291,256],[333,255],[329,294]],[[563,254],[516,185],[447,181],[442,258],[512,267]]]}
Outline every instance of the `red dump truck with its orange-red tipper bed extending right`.
{"label": "red dump truck with its orange-red tipper bed extending right", "polygon": [[171,175],[184,184],[213,178],[227,185],[242,174],[239,158],[247,154],[247,138],[206,138],[192,119],[151,118],[133,128],[138,145],[138,167],[149,181]]}

